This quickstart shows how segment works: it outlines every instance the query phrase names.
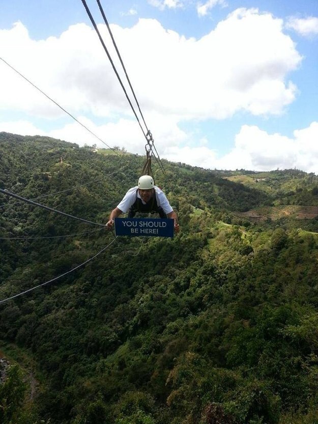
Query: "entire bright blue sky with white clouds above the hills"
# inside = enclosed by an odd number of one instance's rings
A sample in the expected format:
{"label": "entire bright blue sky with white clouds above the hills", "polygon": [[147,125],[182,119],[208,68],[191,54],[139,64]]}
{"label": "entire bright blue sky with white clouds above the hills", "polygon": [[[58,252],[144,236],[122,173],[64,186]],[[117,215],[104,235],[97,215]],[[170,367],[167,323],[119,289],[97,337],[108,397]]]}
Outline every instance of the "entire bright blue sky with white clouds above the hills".
{"label": "entire bright blue sky with white clouds above the hills", "polygon": [[[316,0],[101,3],[162,158],[318,173]],[[143,153],[80,0],[0,0],[0,12],[1,58],[108,145]],[[1,61],[0,76],[0,131],[105,147]]]}

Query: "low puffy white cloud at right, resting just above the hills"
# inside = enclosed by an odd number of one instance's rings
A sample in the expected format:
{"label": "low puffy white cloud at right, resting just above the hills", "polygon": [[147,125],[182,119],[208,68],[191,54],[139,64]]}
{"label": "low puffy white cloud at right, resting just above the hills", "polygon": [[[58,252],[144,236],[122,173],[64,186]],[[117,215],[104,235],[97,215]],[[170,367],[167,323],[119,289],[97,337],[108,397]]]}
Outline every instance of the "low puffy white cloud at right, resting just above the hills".
{"label": "low puffy white cloud at right, resting just above the hills", "polygon": [[297,168],[318,174],[318,122],[294,131],[294,137],[269,134],[257,126],[243,125],[235,137],[233,150],[218,157],[217,152],[200,147],[167,147],[163,157],[193,166],[210,169],[249,169],[270,171],[272,169]]}

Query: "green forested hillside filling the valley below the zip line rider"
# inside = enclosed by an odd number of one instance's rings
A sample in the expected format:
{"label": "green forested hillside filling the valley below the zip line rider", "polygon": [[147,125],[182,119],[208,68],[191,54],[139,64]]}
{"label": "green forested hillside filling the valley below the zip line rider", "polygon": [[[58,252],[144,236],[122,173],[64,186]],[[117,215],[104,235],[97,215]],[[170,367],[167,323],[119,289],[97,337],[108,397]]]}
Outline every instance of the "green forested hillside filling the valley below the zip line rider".
{"label": "green forested hillside filling the valley below the zip line rider", "polygon": [[[96,223],[144,164],[8,133],[0,157],[0,188]],[[180,233],[70,273],[112,233],[0,194],[0,302],[66,273],[0,303],[0,422],[316,424],[317,177],[162,162]]]}

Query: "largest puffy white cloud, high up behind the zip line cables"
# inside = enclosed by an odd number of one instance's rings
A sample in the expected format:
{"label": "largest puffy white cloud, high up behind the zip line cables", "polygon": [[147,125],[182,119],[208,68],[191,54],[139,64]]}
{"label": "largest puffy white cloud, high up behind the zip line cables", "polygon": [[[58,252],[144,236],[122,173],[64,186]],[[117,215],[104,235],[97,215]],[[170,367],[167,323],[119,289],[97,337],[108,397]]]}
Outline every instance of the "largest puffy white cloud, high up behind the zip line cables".
{"label": "largest puffy white cloud, high up behind the zip line cables", "polygon": [[[156,112],[174,116],[178,122],[224,119],[240,110],[280,114],[295,99],[296,87],[287,76],[297,69],[301,56],[283,34],[282,21],[269,13],[239,9],[199,40],[165,30],[155,19],[140,19],[132,28],[111,28],[146,116]],[[105,25],[99,29],[107,42]],[[34,41],[17,23],[12,30],[0,31],[0,45],[9,63],[73,113],[132,116],[89,26],[73,25],[60,37]],[[111,43],[107,45],[115,58]],[[61,116],[53,104],[0,65],[0,108],[47,118]],[[13,90],[19,95],[12,96]]]}

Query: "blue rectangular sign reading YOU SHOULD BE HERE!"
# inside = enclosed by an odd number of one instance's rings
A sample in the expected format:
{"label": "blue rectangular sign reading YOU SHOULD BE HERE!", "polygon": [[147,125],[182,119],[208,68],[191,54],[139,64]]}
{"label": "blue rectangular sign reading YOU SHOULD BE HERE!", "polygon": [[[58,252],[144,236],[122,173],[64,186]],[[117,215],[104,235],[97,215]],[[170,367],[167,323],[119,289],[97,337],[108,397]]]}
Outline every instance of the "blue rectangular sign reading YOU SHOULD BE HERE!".
{"label": "blue rectangular sign reading YOU SHOULD BE HERE!", "polygon": [[171,218],[115,218],[115,235],[174,237],[175,221]]}

